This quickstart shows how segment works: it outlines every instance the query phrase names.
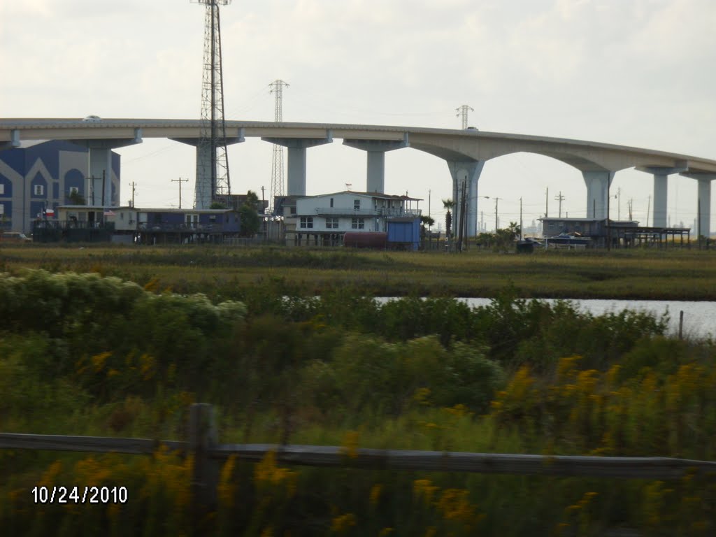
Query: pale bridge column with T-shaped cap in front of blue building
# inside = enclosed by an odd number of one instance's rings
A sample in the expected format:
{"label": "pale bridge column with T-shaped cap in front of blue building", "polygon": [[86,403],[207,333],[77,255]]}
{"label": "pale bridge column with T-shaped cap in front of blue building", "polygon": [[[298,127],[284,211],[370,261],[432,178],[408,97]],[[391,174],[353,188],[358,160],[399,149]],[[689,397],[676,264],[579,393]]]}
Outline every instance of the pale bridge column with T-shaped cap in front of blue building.
{"label": "pale bridge column with T-shaped cap in front of blue building", "polygon": [[[142,143],[142,130],[135,129],[135,137],[106,140],[72,140],[77,145],[87,147],[89,177],[85,190],[87,205],[112,207],[120,204],[120,178],[112,173],[112,150]],[[112,196],[114,188],[115,196]]]}

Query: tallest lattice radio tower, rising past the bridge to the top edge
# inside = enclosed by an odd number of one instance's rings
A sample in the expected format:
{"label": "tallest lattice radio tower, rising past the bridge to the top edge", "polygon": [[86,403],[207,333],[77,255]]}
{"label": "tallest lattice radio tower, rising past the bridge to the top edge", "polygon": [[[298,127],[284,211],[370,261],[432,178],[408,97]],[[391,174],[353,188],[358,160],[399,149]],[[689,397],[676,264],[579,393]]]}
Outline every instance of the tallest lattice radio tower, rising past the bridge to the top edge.
{"label": "tallest lattice radio tower, rising past the bridge to the top edge", "polygon": [[223,107],[221,21],[219,6],[231,0],[191,0],[204,4],[204,69],[201,82],[201,129],[198,143],[195,208],[207,209],[213,201],[227,204],[231,195],[226,154],[226,117]]}

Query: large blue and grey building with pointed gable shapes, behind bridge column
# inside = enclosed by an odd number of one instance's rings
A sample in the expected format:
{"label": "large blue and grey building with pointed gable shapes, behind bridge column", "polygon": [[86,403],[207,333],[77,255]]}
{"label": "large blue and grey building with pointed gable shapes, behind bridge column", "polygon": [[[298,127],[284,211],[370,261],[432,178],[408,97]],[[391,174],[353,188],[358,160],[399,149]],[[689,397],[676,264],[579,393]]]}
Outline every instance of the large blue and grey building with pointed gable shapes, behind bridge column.
{"label": "large blue and grey building with pointed gable shapes, behind bridge column", "polygon": [[[92,204],[102,200],[106,188],[112,205],[120,199],[120,155],[112,152],[112,170],[89,184],[89,152],[72,142],[21,142],[0,150],[0,227],[30,233],[37,218],[57,218],[58,205],[72,203],[77,193]],[[104,185],[104,187],[102,187]]]}

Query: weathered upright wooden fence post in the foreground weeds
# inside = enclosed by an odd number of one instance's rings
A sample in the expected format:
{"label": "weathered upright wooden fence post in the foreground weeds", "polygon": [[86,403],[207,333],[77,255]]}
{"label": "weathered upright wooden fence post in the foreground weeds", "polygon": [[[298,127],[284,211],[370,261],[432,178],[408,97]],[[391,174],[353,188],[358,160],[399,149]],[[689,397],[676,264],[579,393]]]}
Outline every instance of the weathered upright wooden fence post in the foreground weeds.
{"label": "weathered upright wooden fence post in the foreground weeds", "polygon": [[189,453],[194,458],[191,492],[197,507],[213,509],[216,506],[218,461],[209,457],[218,436],[214,408],[207,403],[195,403],[189,408]]}

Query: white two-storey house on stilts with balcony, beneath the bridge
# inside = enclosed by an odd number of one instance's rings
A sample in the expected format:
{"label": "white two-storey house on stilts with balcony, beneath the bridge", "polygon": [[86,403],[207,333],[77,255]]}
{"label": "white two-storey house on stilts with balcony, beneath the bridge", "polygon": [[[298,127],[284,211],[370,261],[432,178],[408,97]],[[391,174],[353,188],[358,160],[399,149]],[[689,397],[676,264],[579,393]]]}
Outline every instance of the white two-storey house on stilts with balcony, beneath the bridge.
{"label": "white two-storey house on stilts with balcony, beneath the bridge", "polygon": [[[337,246],[345,233],[388,233],[395,218],[419,220],[419,198],[407,195],[352,192],[284,199],[286,243]],[[295,207],[294,207],[295,204]]]}

